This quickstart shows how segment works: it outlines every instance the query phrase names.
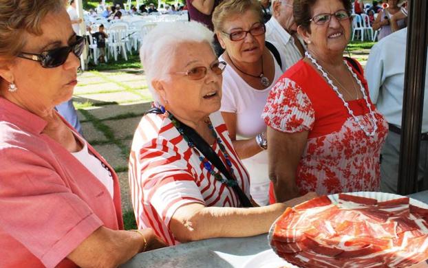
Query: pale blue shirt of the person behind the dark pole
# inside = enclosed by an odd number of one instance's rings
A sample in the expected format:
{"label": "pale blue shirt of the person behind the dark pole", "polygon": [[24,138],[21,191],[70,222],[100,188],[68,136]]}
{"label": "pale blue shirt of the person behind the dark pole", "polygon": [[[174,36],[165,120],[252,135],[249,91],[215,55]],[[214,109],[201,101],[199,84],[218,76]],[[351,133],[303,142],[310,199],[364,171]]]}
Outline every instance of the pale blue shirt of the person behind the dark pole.
{"label": "pale blue shirt of the person behind the dark pole", "polygon": [[[406,42],[407,27],[389,34],[372,47],[365,67],[372,102],[389,124],[399,128],[403,112]],[[422,133],[428,132],[427,98],[428,80],[425,80]]]}

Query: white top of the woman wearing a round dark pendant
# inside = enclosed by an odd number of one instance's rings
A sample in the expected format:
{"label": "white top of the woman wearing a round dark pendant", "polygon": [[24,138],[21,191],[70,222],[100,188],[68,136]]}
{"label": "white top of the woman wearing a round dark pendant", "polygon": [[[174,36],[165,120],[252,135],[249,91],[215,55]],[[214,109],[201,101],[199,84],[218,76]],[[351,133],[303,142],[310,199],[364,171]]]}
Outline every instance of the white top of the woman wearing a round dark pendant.
{"label": "white top of the woman wearing a round dark pendant", "polygon": [[[220,56],[219,60],[224,60],[224,58]],[[281,68],[275,60],[275,77],[270,86],[266,89],[255,89],[250,87],[230,65],[226,66],[223,71],[222,107],[220,111],[236,113],[236,133],[239,135],[237,139],[254,138],[255,135],[266,131],[266,124],[261,118],[261,113],[266,105],[270,89],[281,75]],[[259,205],[266,205],[269,188],[267,151],[264,150],[253,157],[243,159],[242,163],[250,174],[251,197]]]}

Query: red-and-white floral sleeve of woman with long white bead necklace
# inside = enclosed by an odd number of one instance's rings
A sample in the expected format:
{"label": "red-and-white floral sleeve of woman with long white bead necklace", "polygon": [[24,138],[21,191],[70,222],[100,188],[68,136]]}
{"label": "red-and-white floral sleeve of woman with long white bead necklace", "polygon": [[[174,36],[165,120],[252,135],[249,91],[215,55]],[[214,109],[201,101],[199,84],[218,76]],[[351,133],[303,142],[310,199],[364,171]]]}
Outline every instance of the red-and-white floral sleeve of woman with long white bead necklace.
{"label": "red-and-white floral sleeve of woman with long white bead necklace", "polygon": [[295,81],[281,78],[270,91],[261,118],[272,129],[297,133],[312,130],[314,115],[312,103],[306,93]]}

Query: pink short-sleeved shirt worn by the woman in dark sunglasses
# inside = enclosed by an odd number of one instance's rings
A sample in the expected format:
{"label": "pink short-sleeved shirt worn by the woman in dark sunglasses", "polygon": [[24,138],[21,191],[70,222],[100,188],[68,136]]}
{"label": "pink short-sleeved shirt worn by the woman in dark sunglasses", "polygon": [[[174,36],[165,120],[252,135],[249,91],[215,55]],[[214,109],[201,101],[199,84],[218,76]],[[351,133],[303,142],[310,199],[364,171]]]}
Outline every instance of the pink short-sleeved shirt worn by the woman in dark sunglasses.
{"label": "pink short-sleeved shirt worn by the woman in dark sunglasses", "polygon": [[42,133],[46,125],[0,97],[0,267],[72,267],[65,257],[98,227],[123,229],[113,168],[88,144],[111,170],[111,199],[92,172]]}

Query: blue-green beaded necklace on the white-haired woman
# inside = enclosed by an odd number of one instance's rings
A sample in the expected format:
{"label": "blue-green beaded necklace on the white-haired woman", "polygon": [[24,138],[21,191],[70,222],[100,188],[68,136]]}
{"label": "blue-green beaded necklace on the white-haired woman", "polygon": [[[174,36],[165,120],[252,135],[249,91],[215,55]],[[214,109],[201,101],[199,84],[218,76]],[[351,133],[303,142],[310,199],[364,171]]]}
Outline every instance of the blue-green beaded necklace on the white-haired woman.
{"label": "blue-green beaded necklace on the white-haired woman", "polygon": [[224,159],[226,159],[226,164],[228,166],[228,171],[231,173],[232,177],[235,180],[232,179],[225,179],[224,177],[222,177],[221,172],[214,171],[214,165],[210,163],[210,161],[208,161],[208,159],[206,159],[206,157],[204,157],[204,155],[201,155],[200,152],[197,149],[197,147],[195,146],[195,144],[193,143],[193,141],[191,139],[189,139],[189,137],[187,137],[184,134],[184,131],[181,127],[180,121],[176,120],[174,118],[174,116],[169,113],[168,115],[169,120],[171,120],[171,122],[173,123],[173,125],[175,126],[175,129],[178,130],[178,133],[180,133],[180,135],[182,135],[184,141],[187,142],[187,144],[189,145],[189,147],[193,150],[195,150],[195,152],[197,153],[197,155],[199,155],[199,159],[202,162],[204,168],[217,180],[220,181],[223,184],[226,184],[226,186],[230,186],[230,187],[234,187],[237,186],[237,181],[236,181],[236,177],[235,177],[235,173],[233,172],[233,168],[232,168],[232,161],[230,159],[230,155],[227,153],[226,148],[224,147],[223,143],[222,143],[222,139],[220,139],[220,137],[217,136],[217,133],[215,132],[214,126],[213,124],[211,124],[211,120],[206,121],[206,124],[208,124],[208,129],[210,129],[211,134],[213,135],[213,137],[215,138],[215,141],[217,142],[218,146],[220,147],[220,150],[222,151],[223,155],[224,155]]}

